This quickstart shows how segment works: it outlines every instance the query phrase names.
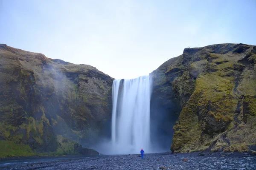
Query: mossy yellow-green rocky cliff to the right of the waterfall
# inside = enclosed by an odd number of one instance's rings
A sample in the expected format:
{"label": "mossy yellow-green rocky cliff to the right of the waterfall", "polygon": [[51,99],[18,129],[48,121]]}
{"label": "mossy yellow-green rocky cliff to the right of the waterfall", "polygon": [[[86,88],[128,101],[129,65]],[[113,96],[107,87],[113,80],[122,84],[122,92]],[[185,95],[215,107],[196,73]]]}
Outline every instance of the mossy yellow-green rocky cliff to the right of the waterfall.
{"label": "mossy yellow-green rocky cliff to the right of the waterfall", "polygon": [[179,114],[172,151],[243,152],[256,144],[256,46],[185,48],[151,77],[151,100]]}

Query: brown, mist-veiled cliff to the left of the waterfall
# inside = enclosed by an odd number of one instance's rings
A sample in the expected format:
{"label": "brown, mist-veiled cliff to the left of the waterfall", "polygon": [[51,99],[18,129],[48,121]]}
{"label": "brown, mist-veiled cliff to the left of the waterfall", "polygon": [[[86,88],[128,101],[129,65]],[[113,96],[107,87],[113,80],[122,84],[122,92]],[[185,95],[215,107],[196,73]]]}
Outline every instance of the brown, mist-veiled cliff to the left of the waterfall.
{"label": "brown, mist-veiled cliff to the left of the waterfall", "polygon": [[20,150],[31,155],[32,150],[56,152],[61,137],[85,146],[95,142],[111,116],[112,82],[90,65],[0,44],[2,145],[26,148]]}

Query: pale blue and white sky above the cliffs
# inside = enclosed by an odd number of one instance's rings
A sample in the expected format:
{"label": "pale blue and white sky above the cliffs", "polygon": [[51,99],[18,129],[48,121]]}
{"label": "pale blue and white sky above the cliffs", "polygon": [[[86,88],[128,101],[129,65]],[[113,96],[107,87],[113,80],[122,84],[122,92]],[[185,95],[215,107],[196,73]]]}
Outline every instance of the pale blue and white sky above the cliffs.
{"label": "pale blue and white sky above the cliffs", "polygon": [[148,75],[186,47],[256,45],[256,0],[0,0],[0,43]]}

